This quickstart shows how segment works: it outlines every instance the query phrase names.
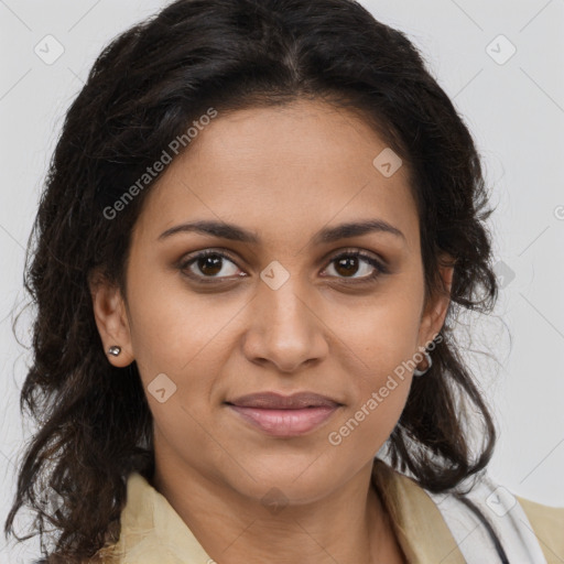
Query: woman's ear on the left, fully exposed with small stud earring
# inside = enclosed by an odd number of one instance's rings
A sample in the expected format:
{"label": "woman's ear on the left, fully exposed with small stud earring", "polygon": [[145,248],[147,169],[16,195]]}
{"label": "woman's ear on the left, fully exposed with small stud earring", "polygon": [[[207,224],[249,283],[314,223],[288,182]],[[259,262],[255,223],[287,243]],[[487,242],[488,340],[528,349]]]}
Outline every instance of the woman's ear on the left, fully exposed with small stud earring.
{"label": "woman's ear on the left, fully exposed with small stud earring", "polygon": [[[126,303],[120,290],[106,276],[95,272],[89,276],[88,284],[93,297],[94,317],[104,344],[108,361],[119,368],[129,366],[133,360],[131,335]],[[112,346],[121,348],[118,356],[110,355]]]}

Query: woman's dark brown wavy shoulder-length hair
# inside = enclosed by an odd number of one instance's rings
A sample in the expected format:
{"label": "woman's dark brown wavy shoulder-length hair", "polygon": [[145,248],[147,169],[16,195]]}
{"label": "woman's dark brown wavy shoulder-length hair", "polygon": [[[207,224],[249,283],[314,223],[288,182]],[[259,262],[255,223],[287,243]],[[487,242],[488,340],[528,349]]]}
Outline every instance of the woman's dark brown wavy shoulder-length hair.
{"label": "woman's dark brown wavy shoulder-length hair", "polygon": [[[4,531],[40,534],[44,562],[96,561],[119,538],[128,476],[154,471],[138,367],[107,361],[88,285],[99,271],[124,289],[130,235],[151,185],[118,220],[105,210],[207,108],[221,115],[300,98],[357,112],[401,155],[427,297],[446,291],[442,253],[455,260],[444,338],[427,376],[413,381],[387,443],[390,463],[435,492],[488,464],[495,424],[453,326],[458,312],[495,304],[485,224],[492,209],[473,138],[419,51],[352,0],[177,0],[97,58],[66,115],[28,247],[36,315],[21,409],[39,431]],[[13,523],[23,507],[35,521],[22,539]]]}

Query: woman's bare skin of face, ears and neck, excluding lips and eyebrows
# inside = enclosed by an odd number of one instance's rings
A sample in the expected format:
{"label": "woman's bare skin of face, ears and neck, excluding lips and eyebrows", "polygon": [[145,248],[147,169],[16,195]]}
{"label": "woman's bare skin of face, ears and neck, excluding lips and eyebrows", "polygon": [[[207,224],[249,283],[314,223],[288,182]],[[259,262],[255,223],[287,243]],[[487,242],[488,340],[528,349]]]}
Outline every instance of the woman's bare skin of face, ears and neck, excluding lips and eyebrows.
{"label": "woman's bare skin of face, ears and neck, excluding lips and eyebrows", "polygon": [[[104,346],[122,348],[109,361],[140,369],[154,420],[153,485],[221,564],[404,561],[370,475],[411,372],[338,446],[327,438],[438,334],[448,306],[447,294],[425,301],[406,166],[384,177],[372,165],[386,147],[359,117],[322,101],[219,113],[148,195],[126,295],[93,284]],[[259,242],[160,238],[203,219],[236,224]],[[311,240],[362,219],[403,235]],[[204,249],[230,258],[212,274],[197,261],[178,265]],[[388,273],[366,281],[375,268],[361,258],[339,268],[345,250],[379,259]],[[278,290],[260,278],[273,260],[290,275]],[[442,270],[448,289],[452,273]],[[160,373],[176,386],[164,403],[148,391]],[[224,403],[260,391],[313,391],[343,405],[305,435],[273,437]],[[288,503],[275,514],[261,502],[273,487]]]}

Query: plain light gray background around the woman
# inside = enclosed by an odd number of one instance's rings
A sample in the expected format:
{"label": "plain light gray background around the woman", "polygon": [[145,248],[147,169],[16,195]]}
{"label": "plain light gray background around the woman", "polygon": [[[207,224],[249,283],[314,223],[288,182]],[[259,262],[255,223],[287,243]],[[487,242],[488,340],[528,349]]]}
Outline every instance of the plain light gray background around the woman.
{"label": "plain light gray background around the woman", "polygon": [[[102,46],[165,3],[0,0],[2,523],[31,432],[18,410],[29,352],[14,340],[11,312],[23,297],[24,248],[42,178],[64,112]],[[422,50],[469,126],[494,189],[501,295],[494,316],[471,319],[471,339],[460,326],[500,430],[490,474],[514,494],[564,506],[564,0],[361,3]],[[64,48],[52,64],[34,52],[56,54],[46,35]],[[508,58],[511,45],[517,51]],[[26,341],[30,314],[22,319]],[[2,563],[36,555],[33,543],[13,549],[0,541]]]}

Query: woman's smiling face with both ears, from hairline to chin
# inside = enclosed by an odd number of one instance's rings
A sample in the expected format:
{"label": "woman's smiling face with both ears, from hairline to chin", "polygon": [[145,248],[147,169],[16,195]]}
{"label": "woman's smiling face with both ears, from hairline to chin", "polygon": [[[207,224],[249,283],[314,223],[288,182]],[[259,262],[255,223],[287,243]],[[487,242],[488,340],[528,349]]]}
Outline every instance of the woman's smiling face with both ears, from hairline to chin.
{"label": "woman's smiling face with both ears, from hairline to chin", "polygon": [[[447,306],[424,307],[415,203],[389,152],[375,165],[386,148],[299,101],[219,112],[167,166],[134,227],[127,316],[119,294],[96,307],[111,361],[139,366],[158,471],[305,502],[371,463]],[[268,392],[323,399],[240,400]]]}

